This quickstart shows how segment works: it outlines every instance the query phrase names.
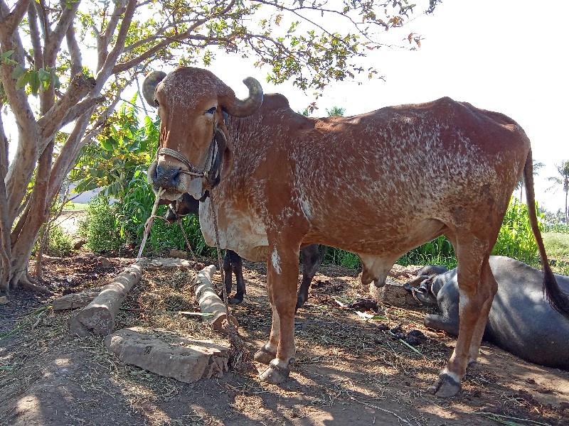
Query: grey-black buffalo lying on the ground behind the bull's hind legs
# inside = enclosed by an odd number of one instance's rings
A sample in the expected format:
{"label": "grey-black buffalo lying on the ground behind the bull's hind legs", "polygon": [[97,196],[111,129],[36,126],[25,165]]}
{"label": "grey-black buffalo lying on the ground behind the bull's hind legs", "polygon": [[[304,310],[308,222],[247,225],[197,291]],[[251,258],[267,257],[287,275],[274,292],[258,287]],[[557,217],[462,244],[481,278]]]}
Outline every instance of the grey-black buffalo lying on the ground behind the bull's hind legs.
{"label": "grey-black buffalo lying on the ground behind the bull's hind legs", "polygon": [[[490,256],[490,267],[498,293],[492,302],[484,339],[534,364],[569,370],[569,320],[543,297],[543,273],[503,256]],[[413,293],[421,302],[439,307],[440,314],[427,315],[425,325],[456,336],[457,270],[445,271],[442,266],[420,269],[417,275],[425,280]],[[560,288],[569,293],[569,277],[555,278]]]}

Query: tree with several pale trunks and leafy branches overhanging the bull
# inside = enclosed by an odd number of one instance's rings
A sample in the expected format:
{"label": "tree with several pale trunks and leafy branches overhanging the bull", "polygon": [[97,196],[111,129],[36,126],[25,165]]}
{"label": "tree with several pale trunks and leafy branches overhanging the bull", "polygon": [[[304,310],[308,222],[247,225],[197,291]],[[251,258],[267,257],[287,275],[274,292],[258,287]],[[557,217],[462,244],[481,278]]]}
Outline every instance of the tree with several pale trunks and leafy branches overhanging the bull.
{"label": "tree with several pale trunks and leafy branches overhanging the bull", "polygon": [[[0,290],[41,290],[26,266],[49,204],[123,89],[154,63],[207,66],[220,50],[251,58],[270,82],[321,91],[377,75],[358,58],[415,9],[407,0],[0,0],[0,108],[18,129],[9,141],[0,115]],[[416,48],[420,35],[402,43]]]}

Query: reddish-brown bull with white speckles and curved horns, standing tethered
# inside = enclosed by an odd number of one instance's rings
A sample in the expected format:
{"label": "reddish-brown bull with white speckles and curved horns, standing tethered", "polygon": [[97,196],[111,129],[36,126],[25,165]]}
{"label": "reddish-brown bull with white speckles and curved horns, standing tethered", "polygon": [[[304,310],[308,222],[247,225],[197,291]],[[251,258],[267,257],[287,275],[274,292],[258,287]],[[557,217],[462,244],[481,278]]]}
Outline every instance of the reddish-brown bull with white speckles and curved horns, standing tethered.
{"label": "reddish-brown bull with white speckles and curved horns, standing tethered", "polygon": [[263,100],[252,78],[241,101],[207,70],[181,67],[164,76],[154,73],[144,89],[161,118],[149,182],[169,200],[185,192],[203,199],[210,190],[213,198],[200,207],[206,242],[216,244],[215,209],[221,248],[267,261],[272,329],[255,354],[269,364],[262,380],[289,376],[302,246],[357,253],[362,281],[376,293],[400,256],[445,234],[458,261],[460,329],[430,391],[459,392],[496,293],[489,255],[521,173],[546,292],[568,314],[536,224],[530,142],[503,114],[442,98],[314,119],[295,114],[280,94]]}

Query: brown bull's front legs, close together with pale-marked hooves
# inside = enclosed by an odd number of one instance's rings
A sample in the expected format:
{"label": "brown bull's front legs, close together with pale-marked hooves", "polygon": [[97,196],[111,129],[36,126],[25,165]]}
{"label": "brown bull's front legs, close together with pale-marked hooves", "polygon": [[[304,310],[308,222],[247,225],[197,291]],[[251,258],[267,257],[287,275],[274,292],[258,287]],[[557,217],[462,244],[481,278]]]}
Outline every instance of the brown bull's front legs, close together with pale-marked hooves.
{"label": "brown bull's front legs, close together with pale-marked hooves", "polygon": [[274,246],[267,261],[267,294],[272,305],[272,327],[267,344],[255,360],[269,362],[261,380],[281,383],[294,361],[294,307],[297,302],[299,244]]}

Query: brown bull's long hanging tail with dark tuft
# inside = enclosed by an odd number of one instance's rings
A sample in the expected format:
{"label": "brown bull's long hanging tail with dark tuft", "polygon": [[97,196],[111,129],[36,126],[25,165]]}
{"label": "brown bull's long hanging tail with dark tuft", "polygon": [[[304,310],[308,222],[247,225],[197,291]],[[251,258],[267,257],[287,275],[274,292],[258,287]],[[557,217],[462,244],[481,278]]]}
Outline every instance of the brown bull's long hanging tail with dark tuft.
{"label": "brown bull's long hanging tail with dark tuft", "polygon": [[526,159],[526,165],[523,167],[523,180],[526,182],[526,199],[528,202],[528,214],[533,235],[536,237],[538,244],[539,257],[543,266],[543,293],[546,296],[551,307],[554,310],[569,318],[569,295],[559,288],[555,275],[549,266],[546,248],[543,246],[541,231],[538,226],[538,217],[536,213],[536,194],[533,190],[533,160],[531,158],[531,148]]}

